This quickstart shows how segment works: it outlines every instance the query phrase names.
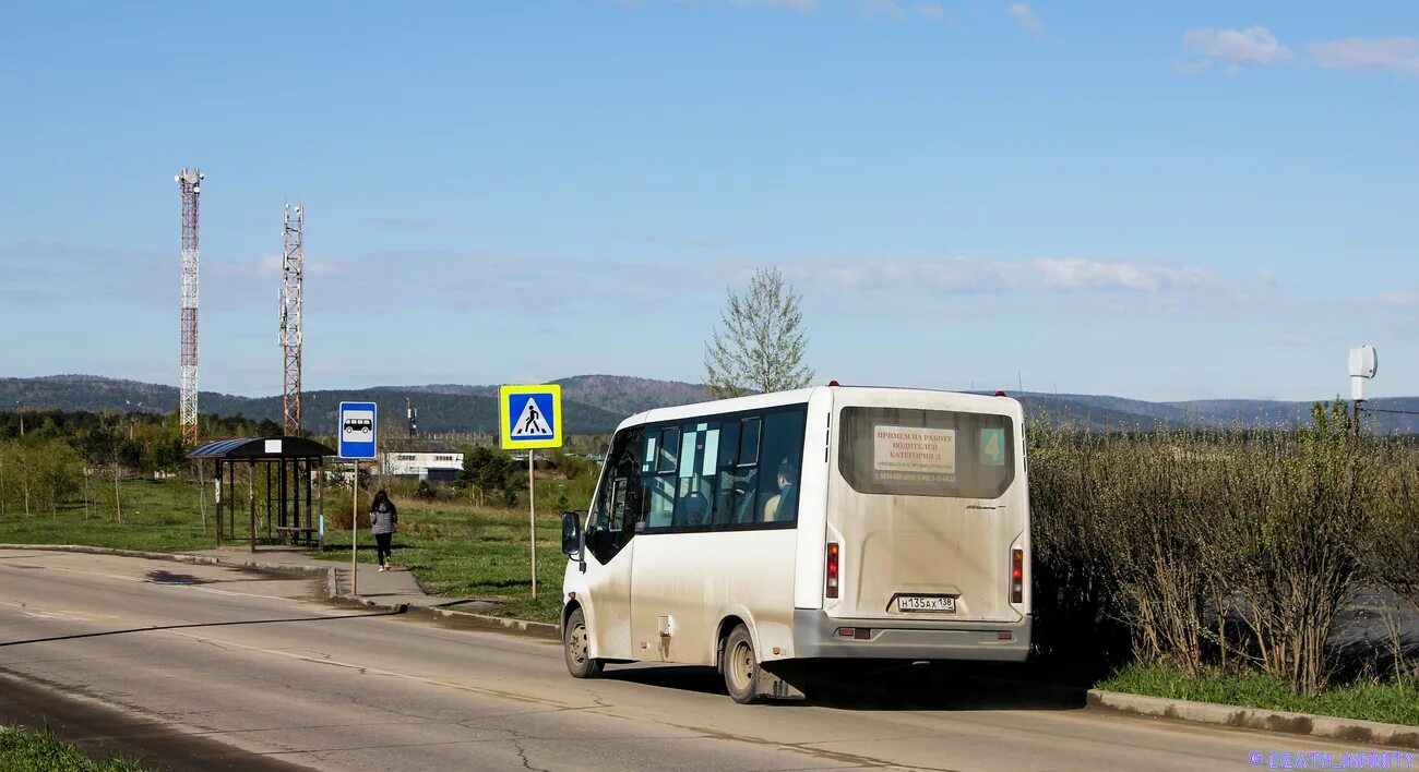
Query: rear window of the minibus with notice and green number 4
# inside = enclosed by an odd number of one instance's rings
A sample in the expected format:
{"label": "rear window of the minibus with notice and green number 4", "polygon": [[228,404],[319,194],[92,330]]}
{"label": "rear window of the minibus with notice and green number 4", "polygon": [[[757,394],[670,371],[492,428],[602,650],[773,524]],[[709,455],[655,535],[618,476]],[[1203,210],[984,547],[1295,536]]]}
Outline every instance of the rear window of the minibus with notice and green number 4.
{"label": "rear window of the minibus with notice and green number 4", "polygon": [[1007,415],[843,408],[837,466],[858,493],[998,499],[1015,480]]}

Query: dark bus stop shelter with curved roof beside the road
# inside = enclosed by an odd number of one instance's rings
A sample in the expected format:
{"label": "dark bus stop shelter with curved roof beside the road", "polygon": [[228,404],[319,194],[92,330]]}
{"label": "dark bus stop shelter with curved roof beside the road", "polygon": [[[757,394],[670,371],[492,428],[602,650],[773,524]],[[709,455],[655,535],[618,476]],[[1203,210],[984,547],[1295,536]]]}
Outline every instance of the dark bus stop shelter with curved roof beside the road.
{"label": "dark bus stop shelter with curved roof beside the road", "polygon": [[[223,538],[237,541],[241,510],[247,510],[253,552],[257,551],[261,526],[258,513],[263,510],[268,541],[316,547],[321,531],[318,523],[325,514],[324,475],[319,470],[329,456],[335,456],[335,450],[299,436],[220,439],[187,453],[189,459],[199,463],[213,462],[217,547],[223,545]],[[245,506],[241,503],[243,482],[247,489]]]}

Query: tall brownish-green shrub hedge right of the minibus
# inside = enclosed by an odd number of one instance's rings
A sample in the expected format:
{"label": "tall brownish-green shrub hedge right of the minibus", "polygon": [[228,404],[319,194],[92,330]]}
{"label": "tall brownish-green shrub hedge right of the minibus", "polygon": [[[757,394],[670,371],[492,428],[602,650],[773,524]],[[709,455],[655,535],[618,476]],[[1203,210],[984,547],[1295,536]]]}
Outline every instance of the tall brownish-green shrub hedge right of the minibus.
{"label": "tall brownish-green shrub hedge right of the minibus", "polygon": [[1027,441],[1046,654],[1077,656],[1105,620],[1128,640],[1110,662],[1254,666],[1314,694],[1342,664],[1327,639],[1352,594],[1413,599],[1419,453],[1355,442],[1344,404],[1298,432],[1036,424]]}

